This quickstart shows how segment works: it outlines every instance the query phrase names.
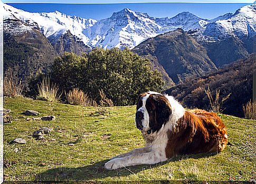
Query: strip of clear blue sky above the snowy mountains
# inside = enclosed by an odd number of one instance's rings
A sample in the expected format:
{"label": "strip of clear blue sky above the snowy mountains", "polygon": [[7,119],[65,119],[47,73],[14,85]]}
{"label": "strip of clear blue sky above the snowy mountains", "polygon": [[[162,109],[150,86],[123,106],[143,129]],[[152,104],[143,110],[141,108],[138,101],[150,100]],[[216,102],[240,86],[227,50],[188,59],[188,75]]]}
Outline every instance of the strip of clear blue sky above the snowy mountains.
{"label": "strip of clear blue sky above the snowy mountains", "polygon": [[[103,18],[110,17],[113,12],[118,12],[123,8],[130,8],[133,11],[148,13],[149,16],[154,16],[154,17],[173,17],[178,13],[186,11],[186,12],[191,12],[202,18],[211,19],[220,15],[223,15],[225,13],[229,13],[229,12],[234,13],[236,9],[246,4],[251,4],[253,2],[253,1],[236,0],[236,1],[232,1],[233,3],[210,3],[210,2],[217,2],[217,1],[204,1],[204,3],[122,3],[125,1],[128,2],[127,0],[118,0],[119,3],[104,4],[110,1],[94,0],[93,3],[101,2],[101,4],[74,4],[79,2],[88,3],[88,1],[67,1],[66,0],[62,2],[73,3],[73,4],[40,3],[40,1],[31,1],[31,3],[24,4],[21,2],[25,2],[25,1],[16,0],[15,2],[18,2],[18,4],[10,3],[10,5],[16,8],[23,9],[24,11],[28,11],[28,12],[59,11],[71,16],[75,15],[83,18],[94,18],[94,19],[103,19]],[[3,2],[4,3],[14,2],[14,0],[3,1]],[[26,1],[26,2],[29,2],[29,1]],[[51,2],[54,2],[54,1],[51,1]],[[117,2],[117,0],[113,0],[112,2]],[[145,1],[141,1],[141,2],[145,2]],[[176,2],[181,2],[181,1],[176,1]],[[186,2],[186,0],[184,0],[183,2]],[[189,2],[193,2],[193,1],[189,1]],[[231,2],[231,1],[226,0],[221,2]],[[244,3],[241,4],[241,3],[234,3],[234,2],[244,2]]]}

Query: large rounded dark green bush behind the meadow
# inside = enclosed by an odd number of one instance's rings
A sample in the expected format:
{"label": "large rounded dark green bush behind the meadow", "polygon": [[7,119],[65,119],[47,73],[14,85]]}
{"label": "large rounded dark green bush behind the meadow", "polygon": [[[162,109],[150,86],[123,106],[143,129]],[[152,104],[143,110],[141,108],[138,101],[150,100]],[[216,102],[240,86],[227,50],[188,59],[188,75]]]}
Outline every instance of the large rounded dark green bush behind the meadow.
{"label": "large rounded dark green bush behind the meadow", "polygon": [[99,90],[118,106],[133,105],[138,94],[160,91],[164,85],[158,71],[148,60],[129,49],[93,49],[77,56],[65,53],[52,65],[52,79],[65,91],[79,88],[99,101]]}

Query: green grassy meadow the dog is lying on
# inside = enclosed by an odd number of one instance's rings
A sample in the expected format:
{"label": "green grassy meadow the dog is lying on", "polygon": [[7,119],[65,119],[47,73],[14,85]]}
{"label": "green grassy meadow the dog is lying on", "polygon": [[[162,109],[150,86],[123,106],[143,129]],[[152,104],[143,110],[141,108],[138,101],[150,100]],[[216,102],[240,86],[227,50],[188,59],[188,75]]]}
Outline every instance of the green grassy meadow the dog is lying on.
{"label": "green grassy meadow the dog is lying on", "polygon": [[[94,108],[72,106],[26,98],[4,98],[14,120],[4,125],[4,168],[6,180],[256,180],[256,124],[221,115],[229,142],[217,155],[179,156],[156,165],[105,170],[113,156],[144,146],[134,124],[135,106]],[[26,121],[27,109],[54,115],[53,121]],[[43,140],[32,134],[41,127],[53,131]],[[25,145],[11,144],[24,138]],[[73,144],[70,146],[69,144]]]}

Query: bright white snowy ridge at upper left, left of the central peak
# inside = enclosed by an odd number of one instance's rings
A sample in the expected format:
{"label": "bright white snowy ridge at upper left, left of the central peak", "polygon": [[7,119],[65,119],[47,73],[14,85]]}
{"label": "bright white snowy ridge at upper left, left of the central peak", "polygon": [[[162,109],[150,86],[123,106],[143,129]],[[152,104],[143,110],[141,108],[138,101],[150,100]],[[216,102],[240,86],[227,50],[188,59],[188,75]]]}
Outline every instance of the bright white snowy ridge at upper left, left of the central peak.
{"label": "bright white snowy ridge at upper left, left of the central peak", "polygon": [[46,37],[60,37],[70,30],[71,34],[80,38],[84,43],[88,42],[88,37],[83,34],[84,29],[97,22],[94,19],[68,16],[58,11],[51,13],[30,13],[7,4],[4,4],[4,9],[4,19],[15,17],[29,25],[35,22],[39,25],[41,33]]}

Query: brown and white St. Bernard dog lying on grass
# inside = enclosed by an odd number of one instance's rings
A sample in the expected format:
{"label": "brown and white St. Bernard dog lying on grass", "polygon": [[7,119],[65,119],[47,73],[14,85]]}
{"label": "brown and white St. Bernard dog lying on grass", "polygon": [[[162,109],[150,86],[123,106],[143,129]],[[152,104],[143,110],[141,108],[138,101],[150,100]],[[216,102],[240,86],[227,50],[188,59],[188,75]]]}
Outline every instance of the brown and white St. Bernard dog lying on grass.
{"label": "brown and white St. Bernard dog lying on grass", "polygon": [[146,146],[118,155],[106,169],[155,164],[175,155],[220,152],[227,144],[221,118],[205,110],[185,110],[172,96],[149,91],[139,95],[135,117]]}

